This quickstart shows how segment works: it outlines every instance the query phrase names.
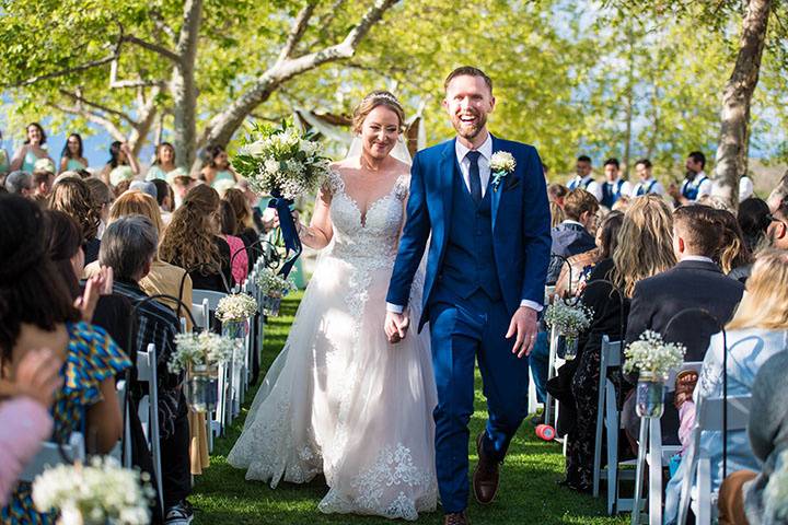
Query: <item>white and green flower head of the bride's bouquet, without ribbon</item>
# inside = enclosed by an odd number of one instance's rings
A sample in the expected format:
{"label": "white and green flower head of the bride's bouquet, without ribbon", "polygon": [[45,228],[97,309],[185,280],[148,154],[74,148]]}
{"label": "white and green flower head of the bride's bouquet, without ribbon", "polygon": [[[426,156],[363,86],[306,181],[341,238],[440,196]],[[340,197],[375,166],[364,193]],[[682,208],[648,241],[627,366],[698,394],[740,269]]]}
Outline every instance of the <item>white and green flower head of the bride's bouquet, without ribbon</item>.
{"label": "white and green flower head of the bride's bouquet, without ribbon", "polygon": [[328,159],[311,133],[293,127],[255,125],[233,167],[258,194],[296,199],[315,191],[328,175]]}

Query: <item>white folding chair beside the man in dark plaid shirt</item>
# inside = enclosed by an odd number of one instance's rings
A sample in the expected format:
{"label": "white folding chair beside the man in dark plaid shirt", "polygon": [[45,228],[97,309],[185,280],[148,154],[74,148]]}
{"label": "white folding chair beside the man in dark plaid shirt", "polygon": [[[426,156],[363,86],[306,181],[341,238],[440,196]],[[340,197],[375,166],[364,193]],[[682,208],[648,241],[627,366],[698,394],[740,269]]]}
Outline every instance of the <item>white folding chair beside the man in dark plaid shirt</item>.
{"label": "white folding chair beside the man in dark plaid shirt", "polygon": [[148,394],[140,399],[138,413],[148,446],[153,457],[153,471],[159,489],[159,502],[164,509],[161,466],[161,435],[159,431],[159,388],[157,349],[150,343],[144,352],[137,352],[137,381],[148,383]]}

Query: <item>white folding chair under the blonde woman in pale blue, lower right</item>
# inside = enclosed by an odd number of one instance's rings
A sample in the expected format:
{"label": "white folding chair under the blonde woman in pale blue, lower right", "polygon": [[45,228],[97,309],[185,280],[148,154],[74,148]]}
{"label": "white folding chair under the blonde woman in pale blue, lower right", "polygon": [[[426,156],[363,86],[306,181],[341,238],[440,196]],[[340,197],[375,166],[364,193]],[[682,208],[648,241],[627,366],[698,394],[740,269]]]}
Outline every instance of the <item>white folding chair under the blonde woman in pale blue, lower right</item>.
{"label": "white folding chair under the blonde woman in pale blue, lower right", "polygon": [[[750,422],[751,396],[728,396],[728,432],[745,430]],[[695,523],[709,525],[716,515],[716,505],[711,504],[711,458],[708,451],[700,447],[700,435],[705,431],[722,432],[726,406],[721,397],[700,399],[695,408],[695,428],[693,429],[693,444],[687,450],[684,460],[690,462],[684,471],[681,488],[681,503],[679,504],[679,523],[684,525],[690,513],[691,501],[694,503]],[[693,485],[697,486],[697,498],[693,494]]]}

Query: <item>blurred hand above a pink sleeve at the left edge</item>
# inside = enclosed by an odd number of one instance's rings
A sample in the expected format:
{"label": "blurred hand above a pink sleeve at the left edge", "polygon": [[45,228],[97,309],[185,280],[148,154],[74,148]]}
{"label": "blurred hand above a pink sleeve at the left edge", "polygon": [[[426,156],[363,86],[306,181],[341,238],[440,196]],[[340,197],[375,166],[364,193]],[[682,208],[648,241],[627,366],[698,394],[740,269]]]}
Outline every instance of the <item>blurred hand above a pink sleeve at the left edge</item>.
{"label": "blurred hand above a pink sleeve at the left edge", "polygon": [[0,380],[0,398],[26,396],[49,408],[62,384],[61,365],[51,350],[31,350],[20,361],[13,382]]}

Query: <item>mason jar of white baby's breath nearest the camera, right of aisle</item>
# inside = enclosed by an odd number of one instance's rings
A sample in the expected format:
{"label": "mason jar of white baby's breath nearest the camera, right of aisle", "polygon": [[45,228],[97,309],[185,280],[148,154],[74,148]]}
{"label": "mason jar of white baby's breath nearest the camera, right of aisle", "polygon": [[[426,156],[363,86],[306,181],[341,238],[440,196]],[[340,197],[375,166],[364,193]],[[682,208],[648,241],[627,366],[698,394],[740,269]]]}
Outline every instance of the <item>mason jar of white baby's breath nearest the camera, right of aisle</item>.
{"label": "mason jar of white baby's breath nearest the camera, right of aisle", "polygon": [[665,342],[658,332],[646,330],[624,351],[624,372],[638,372],[637,415],[661,418],[664,411],[664,388],[671,370],[684,362],[686,349],[677,342]]}

